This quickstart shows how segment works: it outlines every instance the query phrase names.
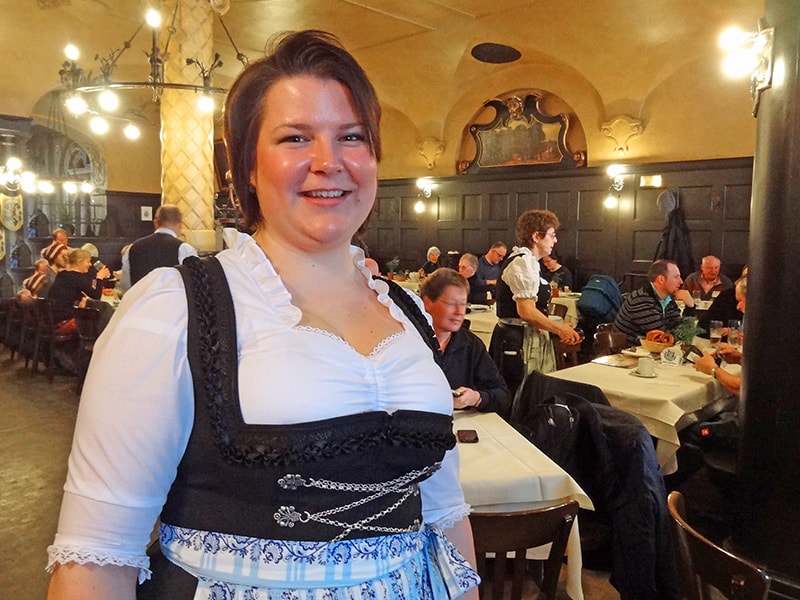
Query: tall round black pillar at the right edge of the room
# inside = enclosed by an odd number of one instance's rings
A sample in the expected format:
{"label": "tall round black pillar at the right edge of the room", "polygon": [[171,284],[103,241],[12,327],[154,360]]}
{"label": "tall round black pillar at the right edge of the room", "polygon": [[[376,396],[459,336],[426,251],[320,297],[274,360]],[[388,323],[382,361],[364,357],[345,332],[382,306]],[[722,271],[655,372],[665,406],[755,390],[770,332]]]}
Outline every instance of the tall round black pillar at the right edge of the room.
{"label": "tall round black pillar at the right edge of the room", "polygon": [[766,0],[764,21],[775,28],[774,66],[753,165],[741,518],[731,542],[800,579],[800,2]]}

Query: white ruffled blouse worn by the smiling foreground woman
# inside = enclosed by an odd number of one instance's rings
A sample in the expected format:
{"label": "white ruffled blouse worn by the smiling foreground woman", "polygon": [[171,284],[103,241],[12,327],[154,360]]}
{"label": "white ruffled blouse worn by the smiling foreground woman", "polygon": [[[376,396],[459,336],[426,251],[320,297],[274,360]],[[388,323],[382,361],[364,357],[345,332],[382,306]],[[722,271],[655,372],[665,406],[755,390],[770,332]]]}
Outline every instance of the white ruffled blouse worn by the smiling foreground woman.
{"label": "white ruffled blouse worn by the smiling foreground woman", "polygon": [[[387,284],[363,267],[360,249],[351,249],[354,262],[377,301],[405,330],[368,356],[331,333],[298,325],[300,310],[252,238],[235,230],[226,230],[225,238],[229,249],[217,257],[233,296],[247,423],[290,424],[401,408],[452,413],[447,380],[430,348],[389,298]],[[78,411],[58,532],[48,549],[51,565],[146,568],[145,549],[194,416],[186,327],[181,276],[162,268],[131,288],[98,339]],[[469,512],[455,449],[420,489],[428,523],[448,527]]]}

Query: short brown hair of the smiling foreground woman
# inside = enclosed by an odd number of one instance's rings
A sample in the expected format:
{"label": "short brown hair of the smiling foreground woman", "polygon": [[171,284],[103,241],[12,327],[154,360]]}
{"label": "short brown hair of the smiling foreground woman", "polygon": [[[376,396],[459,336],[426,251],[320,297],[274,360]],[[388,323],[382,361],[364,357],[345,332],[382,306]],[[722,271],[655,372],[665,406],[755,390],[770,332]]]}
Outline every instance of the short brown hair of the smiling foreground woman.
{"label": "short brown hair of the smiling foreground woman", "polygon": [[271,40],[265,58],[251,63],[231,86],[225,101],[225,150],[230,183],[244,216],[244,226],[255,229],[264,219],[250,185],[256,146],[264,119],[264,97],[279,80],[308,75],[338,81],[350,92],[375,158],[380,161],[381,108],[366,73],[339,40],[325,31],[280,34]]}

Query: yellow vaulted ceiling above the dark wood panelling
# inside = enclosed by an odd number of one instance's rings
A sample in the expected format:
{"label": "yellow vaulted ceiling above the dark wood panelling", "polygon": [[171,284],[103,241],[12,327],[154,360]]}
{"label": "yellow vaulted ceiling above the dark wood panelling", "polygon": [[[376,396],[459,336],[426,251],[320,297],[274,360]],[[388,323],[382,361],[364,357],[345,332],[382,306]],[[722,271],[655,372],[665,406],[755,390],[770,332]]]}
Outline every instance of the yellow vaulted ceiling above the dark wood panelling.
{"label": "yellow vaulted ceiling above the dark wood panelling", "polygon": [[[174,0],[156,4],[169,15]],[[384,108],[383,178],[454,174],[465,127],[483,103],[526,89],[546,90],[570,107],[585,132],[590,165],[753,153],[755,120],[750,115],[748,84],[724,78],[717,38],[729,25],[755,30],[763,0],[231,0],[229,4],[222,19],[235,45],[250,59],[263,54],[272,34],[303,28],[331,31],[355,54]],[[46,123],[52,119],[49,92],[59,86],[64,46],[71,42],[81,48],[81,66],[96,72],[94,54],[105,56],[120,48],[141,23],[147,2],[0,0],[0,7],[0,114],[34,116]],[[511,45],[521,58],[508,64],[479,62],[471,49],[482,42]],[[145,27],[119,59],[115,79],[146,78],[149,44]],[[214,72],[214,84],[228,86],[241,64],[216,14],[213,47],[223,60]],[[98,142],[101,148],[109,153],[142,153],[148,143],[157,145],[157,111],[148,104],[145,96],[142,114],[152,123],[145,137],[154,140],[140,140],[136,150],[123,150],[111,141]],[[628,140],[624,154],[615,150],[619,140],[615,144],[602,132],[604,123],[618,117],[638,121],[642,128]],[[442,142],[445,148],[430,171],[418,153],[425,140]],[[117,189],[150,185],[111,171],[109,177],[119,182],[112,185]]]}

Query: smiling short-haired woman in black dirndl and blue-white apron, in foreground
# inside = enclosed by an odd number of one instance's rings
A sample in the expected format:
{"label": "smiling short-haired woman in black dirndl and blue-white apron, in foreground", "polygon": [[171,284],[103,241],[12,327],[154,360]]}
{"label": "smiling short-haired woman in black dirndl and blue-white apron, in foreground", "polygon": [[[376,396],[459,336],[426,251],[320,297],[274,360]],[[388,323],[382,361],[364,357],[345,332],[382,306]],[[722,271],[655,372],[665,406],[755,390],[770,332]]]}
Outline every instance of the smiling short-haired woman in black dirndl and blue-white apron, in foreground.
{"label": "smiling short-haired woman in black dirndl and blue-white apron, in foreground", "polygon": [[350,245],[377,186],[371,84],[330,34],[288,34],[225,115],[252,236],[151,272],[98,341],[51,600],[132,599],[150,566],[139,598],[474,600],[450,386],[404,312],[421,302]]}

